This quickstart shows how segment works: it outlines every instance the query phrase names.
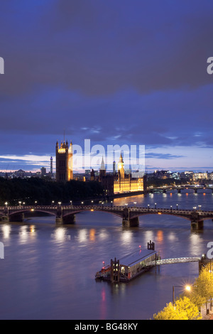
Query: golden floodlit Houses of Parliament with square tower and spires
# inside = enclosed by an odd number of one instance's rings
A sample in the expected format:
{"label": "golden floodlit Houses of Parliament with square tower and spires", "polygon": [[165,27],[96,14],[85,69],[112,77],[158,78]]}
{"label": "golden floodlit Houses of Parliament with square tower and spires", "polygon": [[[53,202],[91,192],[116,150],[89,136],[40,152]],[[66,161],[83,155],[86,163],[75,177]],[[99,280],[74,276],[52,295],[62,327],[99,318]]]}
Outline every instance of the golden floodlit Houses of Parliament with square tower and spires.
{"label": "golden floodlit Houses of Parliament with square tower and spires", "polygon": [[[73,176],[73,151],[72,141],[70,145],[65,140],[58,144],[55,148],[56,157],[56,181],[67,182],[74,179]],[[102,158],[102,165],[99,170],[98,176],[95,175],[92,169],[90,173],[91,181],[99,181],[102,183],[104,194],[106,196],[123,194],[123,193],[136,193],[146,190],[146,176],[140,178],[132,178],[131,173],[126,175],[124,170],[124,159],[121,154],[119,162],[117,163],[118,170],[116,171],[116,162],[114,162],[114,171],[107,173],[104,165],[104,158]]]}

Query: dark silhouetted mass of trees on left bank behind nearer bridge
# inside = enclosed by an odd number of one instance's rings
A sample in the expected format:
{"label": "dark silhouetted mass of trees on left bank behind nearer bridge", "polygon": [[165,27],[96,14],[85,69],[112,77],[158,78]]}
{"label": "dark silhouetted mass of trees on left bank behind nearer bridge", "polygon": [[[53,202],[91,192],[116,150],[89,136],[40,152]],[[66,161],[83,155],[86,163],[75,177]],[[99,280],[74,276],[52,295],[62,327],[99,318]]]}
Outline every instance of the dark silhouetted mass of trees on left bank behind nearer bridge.
{"label": "dark silhouetted mass of trees on left bank behind nearer bridge", "polygon": [[5,202],[18,205],[19,201],[29,205],[33,205],[35,201],[41,205],[50,205],[53,201],[70,203],[70,200],[102,198],[103,194],[102,185],[95,181],[57,183],[42,178],[0,178],[0,205]]}

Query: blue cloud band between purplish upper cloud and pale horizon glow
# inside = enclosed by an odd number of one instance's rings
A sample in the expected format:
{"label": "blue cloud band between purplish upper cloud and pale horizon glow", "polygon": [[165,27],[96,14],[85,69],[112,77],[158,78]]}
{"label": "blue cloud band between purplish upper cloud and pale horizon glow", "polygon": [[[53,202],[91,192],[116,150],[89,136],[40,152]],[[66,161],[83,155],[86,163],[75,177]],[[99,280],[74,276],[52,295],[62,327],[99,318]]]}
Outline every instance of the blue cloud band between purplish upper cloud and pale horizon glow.
{"label": "blue cloud band between purplish upper cloud and pale horizon glow", "polygon": [[4,111],[0,139],[7,139],[10,144],[5,150],[11,153],[15,146],[23,153],[26,146],[48,152],[51,141],[54,149],[64,130],[76,144],[91,139],[99,144],[210,147],[211,90],[212,86],[207,86],[188,93],[153,92],[143,96],[124,91],[94,98],[45,86],[27,97],[20,95],[0,102]]}

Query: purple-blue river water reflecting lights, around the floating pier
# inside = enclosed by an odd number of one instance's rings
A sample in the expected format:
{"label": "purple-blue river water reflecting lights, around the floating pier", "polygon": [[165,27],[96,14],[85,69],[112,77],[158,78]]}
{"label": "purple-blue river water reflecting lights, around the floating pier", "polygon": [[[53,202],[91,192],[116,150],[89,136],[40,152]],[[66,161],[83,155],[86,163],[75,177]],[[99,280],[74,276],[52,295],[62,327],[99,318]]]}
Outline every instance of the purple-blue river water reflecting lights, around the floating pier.
{"label": "purple-blue river water reflecting lights, around the floating pier", "polygon": [[[212,210],[208,193],[157,193],[114,200],[114,205]],[[56,226],[54,217],[1,223],[1,319],[146,320],[172,301],[173,286],[193,283],[198,264],[151,269],[128,284],[95,281],[102,262],[155,242],[162,258],[200,257],[213,241],[213,222],[195,232],[190,222],[170,215],[145,215],[138,227],[104,212],[76,215],[75,225]],[[175,288],[175,296],[181,293]]]}

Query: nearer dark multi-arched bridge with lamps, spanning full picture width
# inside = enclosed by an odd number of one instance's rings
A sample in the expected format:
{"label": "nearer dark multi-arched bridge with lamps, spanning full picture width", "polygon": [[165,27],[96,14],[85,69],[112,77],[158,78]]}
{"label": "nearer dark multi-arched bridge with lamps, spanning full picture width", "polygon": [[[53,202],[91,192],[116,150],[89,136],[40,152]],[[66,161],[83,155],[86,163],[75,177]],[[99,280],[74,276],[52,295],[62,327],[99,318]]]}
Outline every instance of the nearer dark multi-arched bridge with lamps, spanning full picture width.
{"label": "nearer dark multi-arched bridge with lamps, spanning full picture width", "polygon": [[75,215],[79,212],[99,211],[108,212],[111,215],[121,217],[124,227],[138,226],[139,217],[142,215],[171,215],[182,217],[190,221],[192,229],[200,230],[203,227],[204,220],[213,220],[213,211],[204,210],[180,210],[174,208],[140,208],[114,205],[17,205],[1,206],[1,222],[21,222],[26,212],[44,212],[55,216],[57,224],[75,223]]}

